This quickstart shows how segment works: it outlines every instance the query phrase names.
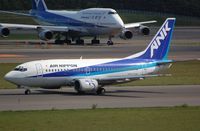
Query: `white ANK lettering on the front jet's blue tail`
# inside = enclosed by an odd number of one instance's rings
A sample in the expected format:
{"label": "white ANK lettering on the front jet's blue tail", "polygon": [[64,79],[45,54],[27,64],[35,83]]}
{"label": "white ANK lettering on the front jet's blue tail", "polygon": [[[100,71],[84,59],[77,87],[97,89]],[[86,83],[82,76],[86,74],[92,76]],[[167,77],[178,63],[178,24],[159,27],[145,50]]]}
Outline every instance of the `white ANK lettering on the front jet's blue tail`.
{"label": "white ANK lettering on the front jet's blue tail", "polygon": [[169,24],[168,22],[165,24],[165,27],[160,31],[160,34],[158,37],[155,38],[155,40],[153,41],[152,45],[151,45],[151,58],[153,58],[154,56],[154,50],[157,50],[160,45],[161,45],[161,40],[165,40],[166,36],[167,36],[167,32],[169,32],[171,30],[171,28],[169,28]]}

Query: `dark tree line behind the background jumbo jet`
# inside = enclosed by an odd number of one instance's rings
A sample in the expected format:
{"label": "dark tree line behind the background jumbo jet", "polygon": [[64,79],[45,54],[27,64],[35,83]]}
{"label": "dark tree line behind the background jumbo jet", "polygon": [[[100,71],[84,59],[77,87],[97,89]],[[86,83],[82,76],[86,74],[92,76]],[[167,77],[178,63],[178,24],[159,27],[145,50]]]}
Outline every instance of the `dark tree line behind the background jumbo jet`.
{"label": "dark tree line behind the background jumbo jet", "polygon": [[[49,9],[104,7],[200,16],[200,0],[45,0]],[[29,10],[31,0],[1,0],[0,10]]]}

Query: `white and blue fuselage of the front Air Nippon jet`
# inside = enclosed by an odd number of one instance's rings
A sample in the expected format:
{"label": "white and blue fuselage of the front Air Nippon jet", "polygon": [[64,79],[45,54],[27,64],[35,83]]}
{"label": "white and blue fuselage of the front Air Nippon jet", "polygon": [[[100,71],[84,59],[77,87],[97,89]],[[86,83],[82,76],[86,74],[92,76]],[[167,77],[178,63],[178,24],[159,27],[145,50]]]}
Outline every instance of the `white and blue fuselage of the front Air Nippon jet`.
{"label": "white and blue fuselage of the front Air Nippon jet", "polygon": [[6,78],[16,85],[56,88],[70,85],[77,79],[128,78],[156,73],[165,67],[156,62],[133,59],[41,60],[17,66]]}

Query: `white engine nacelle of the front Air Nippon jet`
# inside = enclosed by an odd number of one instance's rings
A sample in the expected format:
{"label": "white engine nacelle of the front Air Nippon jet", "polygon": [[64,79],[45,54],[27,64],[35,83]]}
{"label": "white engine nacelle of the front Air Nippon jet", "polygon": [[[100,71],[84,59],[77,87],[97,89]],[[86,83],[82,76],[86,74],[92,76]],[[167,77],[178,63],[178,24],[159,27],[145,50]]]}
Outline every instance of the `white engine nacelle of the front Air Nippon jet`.
{"label": "white engine nacelle of the front Air Nippon jet", "polygon": [[80,79],[75,81],[75,90],[78,92],[92,92],[98,89],[97,80],[93,79]]}

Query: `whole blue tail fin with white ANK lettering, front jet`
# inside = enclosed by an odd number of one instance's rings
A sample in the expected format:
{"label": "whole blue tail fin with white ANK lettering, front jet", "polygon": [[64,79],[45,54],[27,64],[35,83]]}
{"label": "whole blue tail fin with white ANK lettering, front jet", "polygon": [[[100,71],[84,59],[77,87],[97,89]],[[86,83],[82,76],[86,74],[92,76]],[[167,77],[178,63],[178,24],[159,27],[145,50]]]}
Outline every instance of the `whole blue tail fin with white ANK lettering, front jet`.
{"label": "whole blue tail fin with white ANK lettering, front jet", "polygon": [[168,18],[149,43],[148,47],[143,52],[128,58],[167,59],[175,21],[175,18]]}

